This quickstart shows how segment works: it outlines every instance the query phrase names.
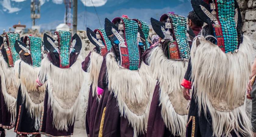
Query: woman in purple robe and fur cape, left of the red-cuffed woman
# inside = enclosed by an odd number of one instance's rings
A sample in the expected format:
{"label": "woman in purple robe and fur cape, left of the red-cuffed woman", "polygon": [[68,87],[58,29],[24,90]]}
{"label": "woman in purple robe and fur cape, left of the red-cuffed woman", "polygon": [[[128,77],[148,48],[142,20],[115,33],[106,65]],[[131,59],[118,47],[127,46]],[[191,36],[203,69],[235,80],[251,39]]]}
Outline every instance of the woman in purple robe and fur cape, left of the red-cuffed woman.
{"label": "woman in purple robe and fur cape, left of the red-cuffed woman", "polygon": [[187,104],[180,82],[190,58],[186,18],[171,12],[160,21],[151,18],[154,31],[160,37],[154,48],[146,51],[154,79],[158,79],[151,101],[147,137],[185,137]]}

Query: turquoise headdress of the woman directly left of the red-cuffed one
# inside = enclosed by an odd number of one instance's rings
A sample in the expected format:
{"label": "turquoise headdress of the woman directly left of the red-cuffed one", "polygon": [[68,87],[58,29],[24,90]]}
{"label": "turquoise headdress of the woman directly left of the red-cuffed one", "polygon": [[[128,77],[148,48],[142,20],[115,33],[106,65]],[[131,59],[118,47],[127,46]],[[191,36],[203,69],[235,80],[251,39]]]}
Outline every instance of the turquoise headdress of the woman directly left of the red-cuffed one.
{"label": "turquoise headdress of the woman directly left of the red-cuffed one", "polygon": [[[168,40],[163,47],[167,50],[169,59],[189,59],[190,46],[187,39],[187,31],[191,30],[187,26],[183,16],[167,13],[161,16],[160,21],[151,18],[154,31],[162,38],[162,42]],[[167,48],[167,49],[165,49]]]}

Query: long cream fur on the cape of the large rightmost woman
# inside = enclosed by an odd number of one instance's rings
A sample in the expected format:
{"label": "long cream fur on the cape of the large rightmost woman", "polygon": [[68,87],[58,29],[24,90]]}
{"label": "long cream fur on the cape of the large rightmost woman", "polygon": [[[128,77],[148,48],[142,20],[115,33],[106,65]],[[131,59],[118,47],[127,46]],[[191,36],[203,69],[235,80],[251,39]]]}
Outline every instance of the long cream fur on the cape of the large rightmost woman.
{"label": "long cream fur on the cape of the large rightmost woman", "polygon": [[[197,42],[200,42],[198,44]],[[225,97],[232,107],[241,97],[246,96],[247,84],[250,76],[250,53],[252,46],[248,37],[244,36],[239,51],[225,54],[221,49],[198,36],[194,39],[191,49],[192,81],[199,114],[202,109],[212,116],[214,136],[252,137],[251,120],[248,118],[244,104],[231,111],[218,111],[212,106],[211,97]],[[228,106],[229,107],[229,106]]]}

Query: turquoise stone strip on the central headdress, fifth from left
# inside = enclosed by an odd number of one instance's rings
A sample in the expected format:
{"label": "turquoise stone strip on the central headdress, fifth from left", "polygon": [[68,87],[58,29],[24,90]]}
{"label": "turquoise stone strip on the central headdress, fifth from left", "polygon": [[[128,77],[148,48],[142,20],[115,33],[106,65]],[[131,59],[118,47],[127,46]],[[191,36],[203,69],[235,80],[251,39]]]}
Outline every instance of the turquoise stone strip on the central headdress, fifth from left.
{"label": "turquoise stone strip on the central headdress, fifth from left", "polygon": [[138,24],[136,21],[122,18],[125,28],[125,38],[128,47],[130,70],[138,70],[140,65],[140,54],[138,49],[137,33]]}

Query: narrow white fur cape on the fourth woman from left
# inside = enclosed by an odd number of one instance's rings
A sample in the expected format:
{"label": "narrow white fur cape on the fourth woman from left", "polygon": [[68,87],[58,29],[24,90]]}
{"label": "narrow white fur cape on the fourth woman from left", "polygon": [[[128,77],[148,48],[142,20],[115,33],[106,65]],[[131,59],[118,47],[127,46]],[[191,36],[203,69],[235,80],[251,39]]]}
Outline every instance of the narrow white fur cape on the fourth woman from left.
{"label": "narrow white fur cape on the fourth woman from left", "polygon": [[92,97],[96,95],[98,87],[98,78],[101,70],[101,64],[103,61],[103,56],[96,53],[95,51],[91,52],[89,67],[87,72],[89,73],[91,83],[92,83]]}

